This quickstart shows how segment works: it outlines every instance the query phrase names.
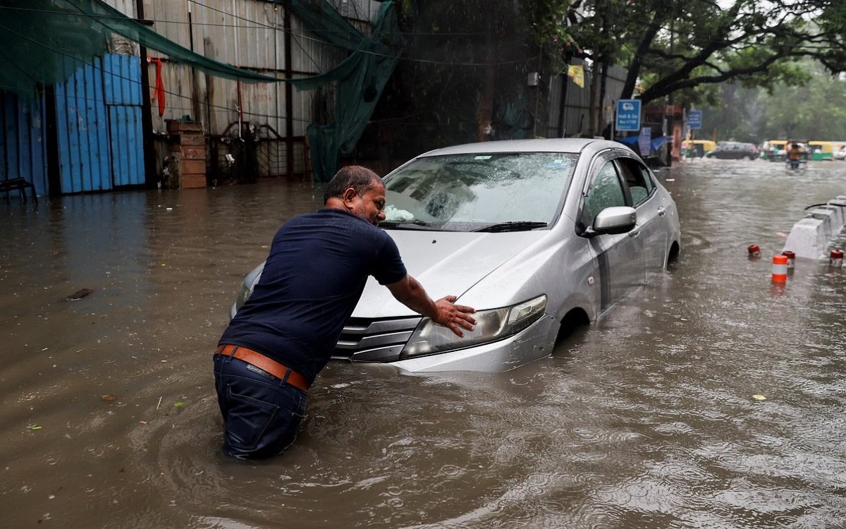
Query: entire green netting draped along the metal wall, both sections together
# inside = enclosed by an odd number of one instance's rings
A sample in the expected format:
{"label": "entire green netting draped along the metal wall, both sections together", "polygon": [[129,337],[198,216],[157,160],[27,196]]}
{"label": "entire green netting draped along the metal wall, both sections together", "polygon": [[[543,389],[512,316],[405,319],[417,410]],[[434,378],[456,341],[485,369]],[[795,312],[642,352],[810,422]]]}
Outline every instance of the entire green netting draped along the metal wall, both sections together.
{"label": "entire green netting draped along the metal wall, both sections together", "polygon": [[[299,90],[337,84],[334,123],[308,129],[316,179],[327,181],[338,157],[353,152],[359,141],[402,52],[402,36],[393,2],[382,3],[369,37],[326,0],[291,0],[291,7],[308,30],[349,51],[348,58],[324,74],[284,80]],[[0,0],[0,90],[31,98],[38,85],[67,80],[92,57],[107,52],[112,34],[207,74],[244,82],[283,81],[191,52],[101,0]]]}

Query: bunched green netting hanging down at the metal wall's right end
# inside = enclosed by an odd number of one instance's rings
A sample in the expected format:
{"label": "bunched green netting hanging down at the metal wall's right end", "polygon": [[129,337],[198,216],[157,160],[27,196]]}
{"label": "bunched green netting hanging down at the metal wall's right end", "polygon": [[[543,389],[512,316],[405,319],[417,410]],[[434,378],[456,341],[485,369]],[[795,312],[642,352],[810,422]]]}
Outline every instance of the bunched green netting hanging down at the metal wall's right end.
{"label": "bunched green netting hanging down at the metal wall's right end", "polygon": [[334,123],[310,124],[308,128],[315,178],[325,182],[338,168],[338,158],[351,154],[364,132],[403,51],[403,39],[393,2],[382,3],[370,37],[350,25],[326,0],[293,0],[291,7],[316,36],[350,51],[334,69],[291,81],[303,90],[338,85]]}

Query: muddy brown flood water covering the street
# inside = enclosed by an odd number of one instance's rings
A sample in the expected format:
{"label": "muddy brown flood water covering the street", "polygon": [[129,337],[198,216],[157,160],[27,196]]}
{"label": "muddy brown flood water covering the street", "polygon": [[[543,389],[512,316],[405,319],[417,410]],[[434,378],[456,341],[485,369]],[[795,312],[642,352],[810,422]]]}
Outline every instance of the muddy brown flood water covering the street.
{"label": "muddy brown flood water covering the street", "polygon": [[218,455],[211,353],[244,273],[322,191],[0,197],[0,525],[844,527],[846,270],[797,260],[777,288],[769,259],[844,175],[662,170],[673,269],[513,371],[331,363],[297,443],[261,463]]}

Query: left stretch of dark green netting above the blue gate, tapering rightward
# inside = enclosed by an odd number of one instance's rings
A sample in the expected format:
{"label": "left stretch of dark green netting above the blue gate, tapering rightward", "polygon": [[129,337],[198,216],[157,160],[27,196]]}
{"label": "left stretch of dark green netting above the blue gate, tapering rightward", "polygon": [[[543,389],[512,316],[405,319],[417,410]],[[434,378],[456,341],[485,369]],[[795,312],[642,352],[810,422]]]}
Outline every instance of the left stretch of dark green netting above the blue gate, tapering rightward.
{"label": "left stretch of dark green netting above the blue gate, tapering rightward", "polygon": [[112,34],[207,74],[250,83],[277,81],[192,52],[100,0],[0,0],[0,90],[31,96],[38,84],[62,82],[81,63],[105,54]]}

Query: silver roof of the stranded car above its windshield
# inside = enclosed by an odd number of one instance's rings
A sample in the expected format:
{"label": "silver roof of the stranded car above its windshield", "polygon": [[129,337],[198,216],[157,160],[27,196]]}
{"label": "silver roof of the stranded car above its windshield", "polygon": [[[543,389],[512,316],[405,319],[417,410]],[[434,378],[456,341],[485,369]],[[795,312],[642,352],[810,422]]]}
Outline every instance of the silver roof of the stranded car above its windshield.
{"label": "silver roof of the stranded car above its windshield", "polygon": [[625,151],[631,150],[628,146],[625,146],[618,141],[595,140],[592,138],[554,138],[543,140],[503,140],[465,143],[464,145],[435,149],[434,151],[421,154],[419,157],[492,152],[566,152],[578,154],[586,151],[598,152],[610,148],[622,148]]}

